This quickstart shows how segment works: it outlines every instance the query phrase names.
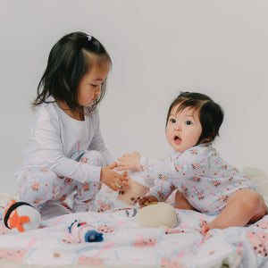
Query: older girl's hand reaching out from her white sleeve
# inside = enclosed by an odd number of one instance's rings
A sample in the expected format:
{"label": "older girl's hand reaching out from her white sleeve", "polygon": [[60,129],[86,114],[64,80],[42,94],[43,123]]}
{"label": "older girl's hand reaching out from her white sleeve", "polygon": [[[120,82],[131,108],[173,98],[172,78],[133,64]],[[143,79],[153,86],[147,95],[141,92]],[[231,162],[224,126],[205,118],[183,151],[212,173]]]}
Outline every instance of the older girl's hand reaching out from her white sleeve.
{"label": "older girl's hand reaching out from her white sleeve", "polygon": [[113,163],[109,166],[103,166],[101,169],[100,181],[104,183],[109,188],[112,188],[113,191],[122,191],[128,187],[128,173],[114,172],[113,169],[116,167],[116,163]]}

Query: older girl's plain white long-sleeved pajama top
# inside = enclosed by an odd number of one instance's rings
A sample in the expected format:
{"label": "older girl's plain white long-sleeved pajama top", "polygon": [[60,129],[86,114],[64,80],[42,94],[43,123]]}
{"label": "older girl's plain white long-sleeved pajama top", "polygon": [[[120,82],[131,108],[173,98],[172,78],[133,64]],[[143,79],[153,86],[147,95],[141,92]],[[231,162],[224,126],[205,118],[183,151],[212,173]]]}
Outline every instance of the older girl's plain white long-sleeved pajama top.
{"label": "older girl's plain white long-sleeved pajama top", "polygon": [[[54,99],[50,98],[49,101]],[[113,163],[101,134],[98,110],[86,114],[84,121],[77,121],[64,113],[55,102],[44,103],[34,115],[29,145],[14,175],[19,180],[22,172],[45,167],[60,176],[80,182],[99,181],[100,166],[76,161],[88,150],[100,152],[106,164]]]}

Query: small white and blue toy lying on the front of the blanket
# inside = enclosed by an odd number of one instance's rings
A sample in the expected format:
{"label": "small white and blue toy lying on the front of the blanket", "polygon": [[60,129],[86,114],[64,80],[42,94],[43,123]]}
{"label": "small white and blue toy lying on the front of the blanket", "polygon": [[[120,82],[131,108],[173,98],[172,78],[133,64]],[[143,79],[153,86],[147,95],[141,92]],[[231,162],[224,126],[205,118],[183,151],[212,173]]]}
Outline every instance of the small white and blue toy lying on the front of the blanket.
{"label": "small white and blue toy lying on the front of the blanket", "polygon": [[93,230],[93,226],[87,222],[78,222],[75,220],[69,226],[71,236],[80,242],[101,242],[103,234]]}

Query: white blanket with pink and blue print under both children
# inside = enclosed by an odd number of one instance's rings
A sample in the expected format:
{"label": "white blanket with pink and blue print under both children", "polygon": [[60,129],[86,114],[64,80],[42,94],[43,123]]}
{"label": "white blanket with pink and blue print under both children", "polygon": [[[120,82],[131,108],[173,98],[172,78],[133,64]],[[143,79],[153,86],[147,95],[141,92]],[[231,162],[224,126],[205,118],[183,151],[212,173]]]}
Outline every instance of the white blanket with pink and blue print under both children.
{"label": "white blanket with pink and blue print under both children", "polygon": [[[176,210],[173,229],[139,228],[138,208],[111,203],[101,194],[96,203],[111,208],[103,213],[66,214],[42,221],[38,230],[19,233],[0,226],[0,258],[20,264],[125,265],[154,267],[268,267],[268,215],[254,225],[211,230],[204,238],[203,221],[213,217]],[[112,197],[112,199],[111,199]],[[105,202],[106,200],[106,202]],[[0,208],[0,218],[3,218]],[[103,233],[102,242],[78,242],[68,227],[74,220],[93,225]]]}

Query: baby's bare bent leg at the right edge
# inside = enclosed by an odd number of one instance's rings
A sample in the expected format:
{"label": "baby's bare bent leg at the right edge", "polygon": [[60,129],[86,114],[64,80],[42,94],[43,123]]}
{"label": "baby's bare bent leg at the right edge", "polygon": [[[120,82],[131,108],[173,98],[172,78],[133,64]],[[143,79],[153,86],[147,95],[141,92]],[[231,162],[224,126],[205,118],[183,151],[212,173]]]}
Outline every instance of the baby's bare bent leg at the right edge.
{"label": "baby's bare bent leg at the right edge", "polygon": [[228,199],[225,208],[213,222],[205,223],[202,233],[212,229],[225,229],[231,226],[245,226],[264,217],[266,206],[264,198],[250,188],[241,189],[233,193]]}

